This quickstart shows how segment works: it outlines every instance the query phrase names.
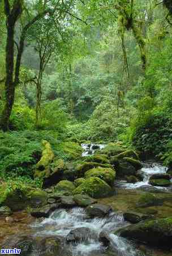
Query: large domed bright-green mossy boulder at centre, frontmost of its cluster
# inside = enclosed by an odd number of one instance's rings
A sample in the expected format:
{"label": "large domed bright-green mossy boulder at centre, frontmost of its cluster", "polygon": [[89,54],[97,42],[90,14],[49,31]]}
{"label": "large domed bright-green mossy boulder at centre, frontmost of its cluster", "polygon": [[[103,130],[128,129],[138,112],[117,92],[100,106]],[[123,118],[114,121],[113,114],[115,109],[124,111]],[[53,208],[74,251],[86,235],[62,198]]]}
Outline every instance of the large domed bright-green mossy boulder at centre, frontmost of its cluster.
{"label": "large domed bright-green mossy boulder at centre, frontmost of its cluster", "polygon": [[87,194],[93,198],[102,198],[112,195],[113,189],[98,177],[89,177],[73,191],[73,195]]}

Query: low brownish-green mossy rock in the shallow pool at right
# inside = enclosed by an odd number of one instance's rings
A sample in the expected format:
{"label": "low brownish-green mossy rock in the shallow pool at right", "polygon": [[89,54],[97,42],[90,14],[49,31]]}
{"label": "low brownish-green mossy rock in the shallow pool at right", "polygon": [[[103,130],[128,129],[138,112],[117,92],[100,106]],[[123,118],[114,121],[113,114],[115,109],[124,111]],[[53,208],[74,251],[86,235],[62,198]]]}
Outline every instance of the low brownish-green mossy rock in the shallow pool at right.
{"label": "low brownish-green mossy rock in the shallow pool at right", "polygon": [[163,200],[160,199],[158,196],[152,193],[143,193],[140,196],[140,199],[137,201],[137,206],[139,207],[151,207],[154,205],[162,205]]}

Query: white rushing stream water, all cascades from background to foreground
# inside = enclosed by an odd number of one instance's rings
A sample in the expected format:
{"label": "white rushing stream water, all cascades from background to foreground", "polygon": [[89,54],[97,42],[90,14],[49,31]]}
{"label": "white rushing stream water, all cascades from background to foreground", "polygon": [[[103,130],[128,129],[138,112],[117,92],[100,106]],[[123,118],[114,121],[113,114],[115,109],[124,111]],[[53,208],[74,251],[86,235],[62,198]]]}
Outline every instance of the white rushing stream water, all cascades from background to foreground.
{"label": "white rushing stream water, all cascades from background to foreground", "polygon": [[[105,145],[101,144],[82,144],[84,148],[83,156],[94,154],[95,150],[101,150]],[[149,185],[149,178],[153,174],[164,174],[167,171],[166,167],[157,163],[143,163],[144,167],[139,171],[143,176],[143,181],[135,184],[126,183],[126,181],[119,181],[115,186],[124,189],[137,189]],[[153,187],[153,186],[151,186]],[[156,189],[171,189],[159,188]],[[89,218],[85,209],[58,209],[53,212],[49,218],[45,218],[41,222],[37,220],[33,225],[35,229],[35,236],[58,236],[63,241],[64,255],[72,256],[139,256],[144,255],[136,249],[130,241],[114,234],[115,230],[128,225],[124,221],[123,215],[111,212],[106,217]],[[87,229],[87,234],[82,234],[83,228]],[[71,230],[79,229],[81,236],[84,239],[80,242],[67,243],[67,237]],[[89,230],[89,231],[88,231]],[[101,232],[107,232],[110,240],[109,249],[102,246],[98,240]]]}

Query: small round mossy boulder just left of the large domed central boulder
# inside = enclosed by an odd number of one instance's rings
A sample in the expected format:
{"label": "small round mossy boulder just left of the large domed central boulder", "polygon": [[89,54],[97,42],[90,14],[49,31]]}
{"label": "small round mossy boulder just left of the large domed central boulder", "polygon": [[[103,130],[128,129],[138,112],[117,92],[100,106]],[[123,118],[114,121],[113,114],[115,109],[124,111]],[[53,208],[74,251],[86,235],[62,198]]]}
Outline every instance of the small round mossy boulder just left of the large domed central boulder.
{"label": "small round mossy boulder just left of the large domed central boulder", "polygon": [[55,193],[59,193],[59,195],[71,195],[72,191],[74,191],[75,185],[72,181],[69,180],[61,180],[55,187]]}

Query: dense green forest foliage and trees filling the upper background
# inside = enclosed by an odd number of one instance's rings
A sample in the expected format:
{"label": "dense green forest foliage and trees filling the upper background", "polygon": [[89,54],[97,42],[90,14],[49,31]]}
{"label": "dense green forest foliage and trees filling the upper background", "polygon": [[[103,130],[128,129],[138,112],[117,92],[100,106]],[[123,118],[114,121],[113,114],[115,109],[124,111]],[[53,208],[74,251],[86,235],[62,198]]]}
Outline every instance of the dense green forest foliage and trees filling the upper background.
{"label": "dense green forest foliage and trees filling the upper background", "polygon": [[122,141],[172,163],[167,1],[48,2],[0,2],[1,176],[33,179],[43,139],[62,159],[70,143]]}

